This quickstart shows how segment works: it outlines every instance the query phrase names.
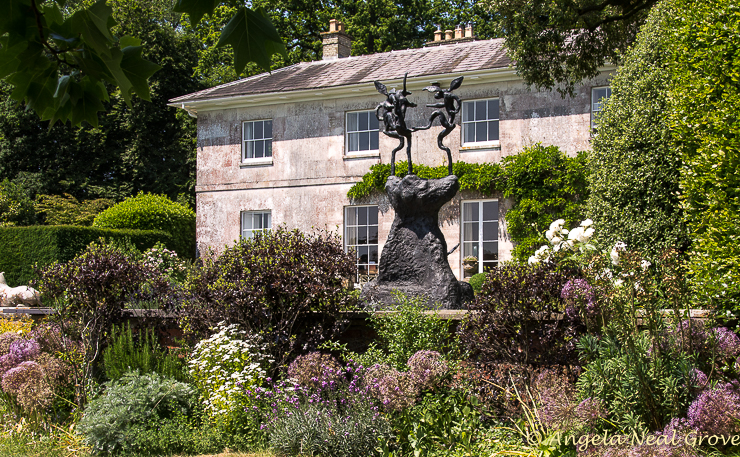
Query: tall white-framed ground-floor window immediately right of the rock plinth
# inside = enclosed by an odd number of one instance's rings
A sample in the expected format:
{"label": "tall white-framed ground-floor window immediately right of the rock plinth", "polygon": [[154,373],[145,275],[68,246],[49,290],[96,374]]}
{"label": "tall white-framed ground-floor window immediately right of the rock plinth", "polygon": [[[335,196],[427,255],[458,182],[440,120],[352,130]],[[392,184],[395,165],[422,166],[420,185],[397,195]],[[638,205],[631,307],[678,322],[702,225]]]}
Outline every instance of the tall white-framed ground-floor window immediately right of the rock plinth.
{"label": "tall white-framed ground-floor window immediately right of the rock plinth", "polygon": [[461,226],[464,277],[498,265],[498,200],[463,202]]}

